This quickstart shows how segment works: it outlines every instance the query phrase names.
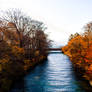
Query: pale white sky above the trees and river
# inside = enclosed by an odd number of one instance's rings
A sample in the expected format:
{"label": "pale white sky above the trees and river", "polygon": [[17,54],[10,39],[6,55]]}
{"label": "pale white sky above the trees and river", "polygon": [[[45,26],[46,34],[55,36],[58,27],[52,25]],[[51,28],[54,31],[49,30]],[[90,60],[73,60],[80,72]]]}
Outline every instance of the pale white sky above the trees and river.
{"label": "pale white sky above the trees and river", "polygon": [[92,0],[0,0],[0,10],[21,9],[47,26],[49,39],[67,44],[70,34],[92,21]]}

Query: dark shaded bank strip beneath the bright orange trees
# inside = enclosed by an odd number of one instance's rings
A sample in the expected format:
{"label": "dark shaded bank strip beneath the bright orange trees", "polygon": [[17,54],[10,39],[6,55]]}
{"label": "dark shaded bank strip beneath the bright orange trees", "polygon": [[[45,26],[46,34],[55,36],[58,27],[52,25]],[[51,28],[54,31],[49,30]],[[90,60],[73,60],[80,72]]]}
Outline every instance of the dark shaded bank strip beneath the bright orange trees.
{"label": "dark shaded bank strip beneath the bright orange trees", "polygon": [[[64,52],[62,52],[64,54]],[[67,55],[67,54],[65,54]],[[68,55],[67,55],[68,56]],[[69,56],[68,56],[69,57]],[[71,61],[71,58],[69,58]],[[73,61],[72,61],[73,62]],[[72,63],[73,64],[73,63]],[[73,64],[72,65],[73,70],[74,70],[74,74],[76,76],[76,79],[78,81],[82,81],[80,82],[79,85],[81,85],[81,87],[85,90],[85,92],[92,92],[92,86],[90,85],[90,80],[86,79],[84,77],[85,74],[85,70],[82,67],[78,67],[77,65]]]}

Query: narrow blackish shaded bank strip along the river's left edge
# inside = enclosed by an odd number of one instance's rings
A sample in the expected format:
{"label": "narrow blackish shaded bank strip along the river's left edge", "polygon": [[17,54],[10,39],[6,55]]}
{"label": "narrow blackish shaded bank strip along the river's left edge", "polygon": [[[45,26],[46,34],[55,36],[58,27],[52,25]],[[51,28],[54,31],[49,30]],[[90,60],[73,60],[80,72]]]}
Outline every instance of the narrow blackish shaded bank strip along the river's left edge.
{"label": "narrow blackish shaded bank strip along the river's left edge", "polygon": [[[36,58],[37,60],[37,58]],[[35,63],[30,63],[29,66],[27,66],[26,70],[24,70],[23,75],[19,76],[17,80],[13,80],[12,85],[10,86],[9,92],[18,84],[18,86],[22,85],[24,87],[24,77],[28,75],[36,66],[38,66],[41,63],[44,63],[44,61],[47,60],[47,55],[43,56],[43,58],[40,57],[39,60],[35,61]],[[25,67],[25,66],[24,66]],[[22,84],[20,84],[22,82]]]}

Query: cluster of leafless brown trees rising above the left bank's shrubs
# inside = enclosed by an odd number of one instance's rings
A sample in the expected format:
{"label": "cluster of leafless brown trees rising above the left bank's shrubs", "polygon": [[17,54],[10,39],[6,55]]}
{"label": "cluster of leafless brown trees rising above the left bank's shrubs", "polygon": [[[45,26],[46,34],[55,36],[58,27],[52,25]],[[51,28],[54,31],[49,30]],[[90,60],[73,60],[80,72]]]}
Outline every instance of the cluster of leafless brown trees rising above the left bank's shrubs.
{"label": "cluster of leafless brown trees rising above the left bank's shrubs", "polygon": [[32,20],[18,9],[5,11],[1,19],[7,23],[5,27],[7,32],[14,31],[16,34],[16,37],[13,37],[7,33],[8,39],[11,38],[12,43],[14,42],[13,40],[18,40],[19,47],[24,48],[28,57],[30,55],[32,57],[34,51],[38,49],[42,53],[43,51],[45,52],[45,48],[48,48],[49,41],[47,41],[47,36],[44,32],[46,27],[43,22]]}

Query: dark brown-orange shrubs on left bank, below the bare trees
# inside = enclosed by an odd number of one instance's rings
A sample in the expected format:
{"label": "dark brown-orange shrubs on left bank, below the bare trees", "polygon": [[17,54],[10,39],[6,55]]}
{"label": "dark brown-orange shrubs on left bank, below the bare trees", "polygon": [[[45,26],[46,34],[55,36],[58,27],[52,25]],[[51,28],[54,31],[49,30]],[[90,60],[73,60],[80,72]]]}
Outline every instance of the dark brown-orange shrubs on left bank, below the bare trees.
{"label": "dark brown-orange shrubs on left bank, below the bare trees", "polygon": [[[0,51],[3,50],[3,56],[6,55],[9,57],[5,57],[1,59],[0,64],[0,92],[8,92],[11,90],[12,86],[24,76],[31,71],[36,65],[43,62],[47,58],[47,54],[41,55],[37,54],[36,51],[35,58],[27,59],[24,56],[23,48],[15,48],[15,46],[9,46],[6,42],[0,43]],[[6,49],[7,47],[7,49]],[[13,51],[14,50],[14,51]],[[16,55],[15,55],[16,52]],[[12,55],[12,56],[11,56]],[[15,58],[15,60],[14,60]]]}

